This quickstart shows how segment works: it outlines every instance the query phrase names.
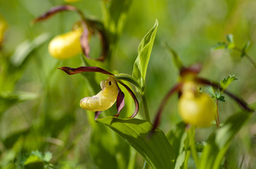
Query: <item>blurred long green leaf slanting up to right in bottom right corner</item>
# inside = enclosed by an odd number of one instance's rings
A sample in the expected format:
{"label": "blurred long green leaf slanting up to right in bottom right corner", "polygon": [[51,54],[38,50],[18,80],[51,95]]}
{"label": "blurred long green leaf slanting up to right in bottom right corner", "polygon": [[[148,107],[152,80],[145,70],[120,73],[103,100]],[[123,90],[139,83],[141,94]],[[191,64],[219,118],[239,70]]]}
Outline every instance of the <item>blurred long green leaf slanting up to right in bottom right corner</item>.
{"label": "blurred long green leaf slanting up to right in bottom right corner", "polygon": [[231,115],[223,124],[223,127],[210,135],[208,144],[201,156],[199,169],[220,168],[223,156],[228,151],[233,137],[235,137],[235,134],[238,133],[250,116],[251,114],[246,112]]}

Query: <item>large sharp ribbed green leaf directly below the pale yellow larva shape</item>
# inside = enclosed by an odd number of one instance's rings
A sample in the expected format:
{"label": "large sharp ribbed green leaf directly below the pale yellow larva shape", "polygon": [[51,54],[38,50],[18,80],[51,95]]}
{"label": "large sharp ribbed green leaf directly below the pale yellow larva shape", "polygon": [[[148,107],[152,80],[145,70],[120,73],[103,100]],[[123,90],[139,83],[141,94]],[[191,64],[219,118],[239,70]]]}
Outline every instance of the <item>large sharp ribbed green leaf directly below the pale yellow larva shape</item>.
{"label": "large sharp ribbed green leaf directly below the pale yellow larva shape", "polygon": [[129,145],[141,154],[154,169],[173,168],[175,153],[172,146],[161,130],[156,130],[149,138],[152,124],[136,118],[98,118],[122,137]]}

